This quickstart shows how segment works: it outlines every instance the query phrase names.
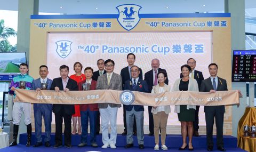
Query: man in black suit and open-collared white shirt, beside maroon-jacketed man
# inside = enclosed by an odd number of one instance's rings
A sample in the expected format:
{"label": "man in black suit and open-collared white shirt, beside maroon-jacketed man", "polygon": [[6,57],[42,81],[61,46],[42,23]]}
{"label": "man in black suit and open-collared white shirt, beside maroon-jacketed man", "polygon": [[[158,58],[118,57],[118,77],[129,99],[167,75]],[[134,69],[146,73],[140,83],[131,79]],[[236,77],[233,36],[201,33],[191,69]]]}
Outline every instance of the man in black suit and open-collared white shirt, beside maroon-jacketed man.
{"label": "man in black suit and open-collared white shirt, beside maroon-jacketed man", "polygon": [[[77,82],[68,77],[69,67],[66,65],[60,66],[60,76],[54,78],[51,85],[51,90],[64,92],[78,91]],[[53,148],[62,146],[62,119],[64,119],[64,144],[65,147],[71,148],[71,118],[75,114],[74,105],[54,104],[52,111],[55,114],[55,145]]]}

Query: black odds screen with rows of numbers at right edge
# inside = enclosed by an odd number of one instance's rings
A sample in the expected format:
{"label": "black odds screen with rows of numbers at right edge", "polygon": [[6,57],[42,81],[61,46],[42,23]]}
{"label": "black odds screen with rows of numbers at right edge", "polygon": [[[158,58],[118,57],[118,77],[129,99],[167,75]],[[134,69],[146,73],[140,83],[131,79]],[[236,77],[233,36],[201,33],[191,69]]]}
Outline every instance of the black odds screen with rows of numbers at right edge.
{"label": "black odds screen with rows of numbers at right edge", "polygon": [[256,51],[234,50],[232,82],[256,82]]}

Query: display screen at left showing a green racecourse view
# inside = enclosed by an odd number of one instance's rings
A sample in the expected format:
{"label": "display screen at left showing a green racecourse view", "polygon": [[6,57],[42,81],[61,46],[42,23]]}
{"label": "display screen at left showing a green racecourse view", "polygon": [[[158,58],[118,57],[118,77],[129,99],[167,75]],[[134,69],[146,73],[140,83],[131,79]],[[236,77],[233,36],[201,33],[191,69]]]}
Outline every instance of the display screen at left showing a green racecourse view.
{"label": "display screen at left showing a green racecourse view", "polygon": [[19,75],[21,63],[26,63],[26,52],[0,53],[0,82],[10,82]]}

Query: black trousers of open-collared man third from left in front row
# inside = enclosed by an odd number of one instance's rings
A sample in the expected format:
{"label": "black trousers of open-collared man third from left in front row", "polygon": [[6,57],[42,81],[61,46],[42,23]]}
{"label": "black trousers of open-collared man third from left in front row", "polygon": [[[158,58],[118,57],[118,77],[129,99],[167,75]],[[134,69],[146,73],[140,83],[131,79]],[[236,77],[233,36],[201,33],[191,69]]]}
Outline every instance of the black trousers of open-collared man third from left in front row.
{"label": "black trousers of open-collared man third from left in front row", "polygon": [[63,109],[55,114],[55,144],[62,145],[62,122],[64,119],[64,144],[71,145],[71,118],[72,115],[66,114]]}

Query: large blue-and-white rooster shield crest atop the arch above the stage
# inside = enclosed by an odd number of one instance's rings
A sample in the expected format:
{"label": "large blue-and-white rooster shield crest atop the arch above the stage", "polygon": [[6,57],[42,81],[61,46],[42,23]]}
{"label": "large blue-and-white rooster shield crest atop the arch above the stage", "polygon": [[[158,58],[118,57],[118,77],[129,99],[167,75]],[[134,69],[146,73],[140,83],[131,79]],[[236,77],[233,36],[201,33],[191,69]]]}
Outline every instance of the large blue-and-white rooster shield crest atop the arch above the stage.
{"label": "large blue-and-white rooster shield crest atop the arch above the stage", "polygon": [[125,4],[117,6],[116,9],[119,13],[117,21],[124,29],[131,30],[137,26],[140,21],[139,11],[141,6],[135,4]]}

